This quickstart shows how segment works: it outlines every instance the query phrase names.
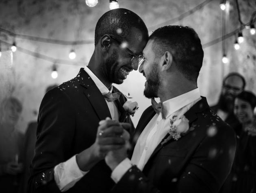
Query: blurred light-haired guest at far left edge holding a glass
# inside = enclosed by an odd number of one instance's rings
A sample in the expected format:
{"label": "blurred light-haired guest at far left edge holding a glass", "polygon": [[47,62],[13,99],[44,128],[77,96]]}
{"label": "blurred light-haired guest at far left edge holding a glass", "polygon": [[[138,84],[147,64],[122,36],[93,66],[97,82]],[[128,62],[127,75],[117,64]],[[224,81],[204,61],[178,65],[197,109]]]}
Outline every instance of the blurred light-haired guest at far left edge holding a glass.
{"label": "blurred light-haired guest at far left edge holding a glass", "polygon": [[14,97],[0,105],[0,189],[4,193],[21,191],[23,136],[15,128],[21,111],[22,104]]}

